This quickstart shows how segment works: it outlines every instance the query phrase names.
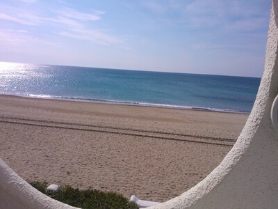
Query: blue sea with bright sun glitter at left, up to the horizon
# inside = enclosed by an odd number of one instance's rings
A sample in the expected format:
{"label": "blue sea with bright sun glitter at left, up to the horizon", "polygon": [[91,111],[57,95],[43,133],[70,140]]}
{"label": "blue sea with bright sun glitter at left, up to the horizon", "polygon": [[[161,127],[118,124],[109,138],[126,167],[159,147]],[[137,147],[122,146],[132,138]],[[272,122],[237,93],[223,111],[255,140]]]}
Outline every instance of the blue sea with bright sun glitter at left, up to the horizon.
{"label": "blue sea with bright sun glitter at left, up to the horizon", "polygon": [[0,63],[0,94],[249,113],[260,78]]}

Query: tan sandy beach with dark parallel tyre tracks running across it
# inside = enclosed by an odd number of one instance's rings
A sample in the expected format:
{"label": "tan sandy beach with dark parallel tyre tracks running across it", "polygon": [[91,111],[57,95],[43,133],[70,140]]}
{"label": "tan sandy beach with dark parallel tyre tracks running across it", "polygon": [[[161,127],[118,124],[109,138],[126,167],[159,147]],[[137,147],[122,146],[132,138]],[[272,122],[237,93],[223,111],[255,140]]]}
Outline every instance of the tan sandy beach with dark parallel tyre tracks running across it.
{"label": "tan sandy beach with dark parallel tyre tracks running across it", "polygon": [[28,181],[167,201],[221,162],[247,116],[0,95],[0,157]]}

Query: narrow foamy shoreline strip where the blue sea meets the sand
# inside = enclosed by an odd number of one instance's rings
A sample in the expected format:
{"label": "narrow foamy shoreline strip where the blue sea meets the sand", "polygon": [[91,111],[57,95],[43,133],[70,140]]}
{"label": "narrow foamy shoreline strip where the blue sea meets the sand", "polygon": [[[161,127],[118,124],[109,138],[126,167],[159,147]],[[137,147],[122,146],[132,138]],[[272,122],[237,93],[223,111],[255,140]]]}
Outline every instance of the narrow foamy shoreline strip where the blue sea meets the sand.
{"label": "narrow foamy shoreline strip where the blue sea meets the sand", "polygon": [[211,111],[211,112],[222,112],[222,113],[230,113],[230,114],[250,114],[251,111],[237,111],[233,109],[216,109],[209,107],[186,107],[172,104],[152,104],[152,103],[144,103],[144,102],[126,102],[126,101],[110,101],[110,100],[95,100],[95,99],[86,99],[86,98],[63,98],[59,96],[52,95],[12,95],[12,94],[0,94],[6,96],[15,96],[22,98],[34,98],[34,99],[42,99],[42,100],[65,100],[72,102],[88,102],[88,103],[97,103],[97,104],[115,104],[115,105],[126,105],[126,106],[135,106],[135,107],[154,107],[154,108],[166,108],[166,109],[186,109],[193,111]]}

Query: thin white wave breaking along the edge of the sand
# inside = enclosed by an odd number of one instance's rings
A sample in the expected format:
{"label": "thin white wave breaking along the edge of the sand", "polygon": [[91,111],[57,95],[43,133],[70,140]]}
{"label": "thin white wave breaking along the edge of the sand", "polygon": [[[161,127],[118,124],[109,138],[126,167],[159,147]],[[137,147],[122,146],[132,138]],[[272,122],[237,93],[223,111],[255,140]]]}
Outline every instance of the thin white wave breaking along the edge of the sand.
{"label": "thin white wave breaking along the edge of the sand", "polygon": [[[0,93],[4,94],[5,93]],[[227,112],[227,113],[241,113],[241,114],[250,114],[250,111],[242,111],[237,109],[220,109],[212,107],[190,107],[183,105],[174,105],[174,104],[156,104],[149,102],[133,102],[133,101],[121,101],[121,100],[101,100],[95,98],[82,98],[82,97],[71,97],[71,96],[57,96],[57,95],[44,95],[44,94],[13,94],[22,97],[31,97],[31,98],[42,98],[42,99],[55,99],[55,100],[71,100],[71,101],[82,101],[82,102],[96,102],[96,103],[106,103],[106,104],[124,104],[131,106],[141,106],[141,107],[164,107],[172,109],[191,109],[198,111],[216,111],[216,112]]]}

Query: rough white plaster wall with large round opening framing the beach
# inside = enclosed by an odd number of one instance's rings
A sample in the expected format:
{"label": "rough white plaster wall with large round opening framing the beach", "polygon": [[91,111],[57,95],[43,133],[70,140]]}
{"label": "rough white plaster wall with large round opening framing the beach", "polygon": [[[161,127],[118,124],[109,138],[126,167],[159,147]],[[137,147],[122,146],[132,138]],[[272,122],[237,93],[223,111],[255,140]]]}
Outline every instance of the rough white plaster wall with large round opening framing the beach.
{"label": "rough white plaster wall with large round opening framing the beach", "polygon": [[[238,141],[220,165],[157,208],[278,208],[278,134],[270,119],[278,94],[278,0],[272,1],[265,71]],[[28,185],[0,159],[0,208],[73,208]]]}

